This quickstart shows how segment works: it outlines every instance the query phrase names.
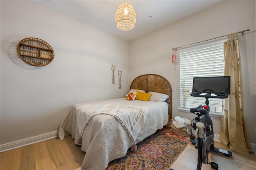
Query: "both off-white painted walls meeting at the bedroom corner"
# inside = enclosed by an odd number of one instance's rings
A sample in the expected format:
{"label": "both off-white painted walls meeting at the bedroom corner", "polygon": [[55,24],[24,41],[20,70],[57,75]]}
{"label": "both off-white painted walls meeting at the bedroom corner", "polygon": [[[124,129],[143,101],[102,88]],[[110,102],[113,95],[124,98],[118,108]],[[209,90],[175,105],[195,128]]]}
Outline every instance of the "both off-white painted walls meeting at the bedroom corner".
{"label": "both off-white painted walls meeting at the bedroom corner", "polygon": [[[74,103],[124,97],[130,82],[146,73],[170,81],[173,118],[192,119],[192,113],[178,111],[179,65],[172,69],[172,48],[250,28],[240,35],[240,45],[244,83],[255,84],[255,7],[255,1],[224,1],[128,43],[32,1],[0,1],[1,146],[58,130]],[[33,67],[18,57],[17,44],[28,37],[53,47],[52,63]],[[122,89],[118,70],[123,71]],[[252,143],[256,143],[255,91],[253,86],[244,88],[245,123]],[[215,134],[220,134],[220,118],[212,119]]]}

